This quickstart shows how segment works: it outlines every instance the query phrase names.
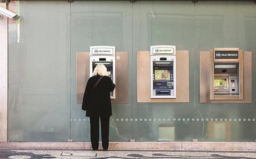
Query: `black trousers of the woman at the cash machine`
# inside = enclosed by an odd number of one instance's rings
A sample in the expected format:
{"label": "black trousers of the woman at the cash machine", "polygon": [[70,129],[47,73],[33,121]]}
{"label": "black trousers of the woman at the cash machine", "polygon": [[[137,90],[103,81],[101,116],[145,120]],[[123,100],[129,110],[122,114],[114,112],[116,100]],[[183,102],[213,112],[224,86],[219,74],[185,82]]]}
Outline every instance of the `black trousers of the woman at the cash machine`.
{"label": "black trousers of the woman at the cash machine", "polygon": [[93,149],[99,148],[99,119],[101,120],[102,147],[103,149],[108,149],[109,118],[110,117],[90,117],[91,146]]}

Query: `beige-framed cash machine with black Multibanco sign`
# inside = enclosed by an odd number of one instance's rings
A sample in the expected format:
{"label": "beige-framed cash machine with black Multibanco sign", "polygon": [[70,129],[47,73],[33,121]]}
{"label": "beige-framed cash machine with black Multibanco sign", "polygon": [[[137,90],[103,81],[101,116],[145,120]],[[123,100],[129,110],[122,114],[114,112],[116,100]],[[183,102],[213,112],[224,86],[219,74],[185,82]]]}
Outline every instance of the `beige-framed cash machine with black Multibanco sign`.
{"label": "beige-framed cash machine with black Multibanco sign", "polygon": [[243,52],[239,48],[211,51],[210,100],[243,99]]}

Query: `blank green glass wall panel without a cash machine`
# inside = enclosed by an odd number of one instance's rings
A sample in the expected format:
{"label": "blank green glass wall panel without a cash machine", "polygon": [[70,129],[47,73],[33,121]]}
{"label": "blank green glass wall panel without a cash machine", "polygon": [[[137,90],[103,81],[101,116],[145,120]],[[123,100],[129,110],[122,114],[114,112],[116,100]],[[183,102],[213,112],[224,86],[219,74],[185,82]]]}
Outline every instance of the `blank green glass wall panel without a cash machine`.
{"label": "blank green glass wall panel without a cash machine", "polygon": [[12,5],[21,19],[9,21],[8,139],[67,141],[70,5],[61,1],[12,1]]}

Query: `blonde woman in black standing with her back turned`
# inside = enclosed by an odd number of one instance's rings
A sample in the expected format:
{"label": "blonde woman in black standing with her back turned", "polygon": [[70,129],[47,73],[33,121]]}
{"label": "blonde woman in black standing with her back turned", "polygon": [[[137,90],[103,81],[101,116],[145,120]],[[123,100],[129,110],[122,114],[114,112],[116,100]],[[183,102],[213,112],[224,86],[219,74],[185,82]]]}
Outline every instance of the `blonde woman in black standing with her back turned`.
{"label": "blonde woman in black standing with her back turned", "polygon": [[89,78],[84,91],[82,109],[86,117],[90,117],[91,146],[98,150],[99,146],[99,120],[101,121],[101,139],[104,151],[109,144],[109,118],[112,115],[110,92],[115,89],[108,76],[104,64],[98,64],[93,76]]}

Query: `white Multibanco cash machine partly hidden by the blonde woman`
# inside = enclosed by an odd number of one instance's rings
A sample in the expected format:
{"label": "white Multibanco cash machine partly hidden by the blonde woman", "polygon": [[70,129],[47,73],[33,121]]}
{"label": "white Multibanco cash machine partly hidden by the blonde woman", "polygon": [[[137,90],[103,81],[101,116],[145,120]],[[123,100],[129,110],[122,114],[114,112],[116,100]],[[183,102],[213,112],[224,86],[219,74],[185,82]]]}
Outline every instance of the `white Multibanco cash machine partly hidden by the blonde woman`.
{"label": "white Multibanco cash machine partly hidden by the blonde woman", "polygon": [[[115,46],[90,46],[90,77],[93,75],[94,68],[101,63],[106,66],[109,77],[115,84]],[[111,99],[115,99],[115,90],[111,92]]]}

